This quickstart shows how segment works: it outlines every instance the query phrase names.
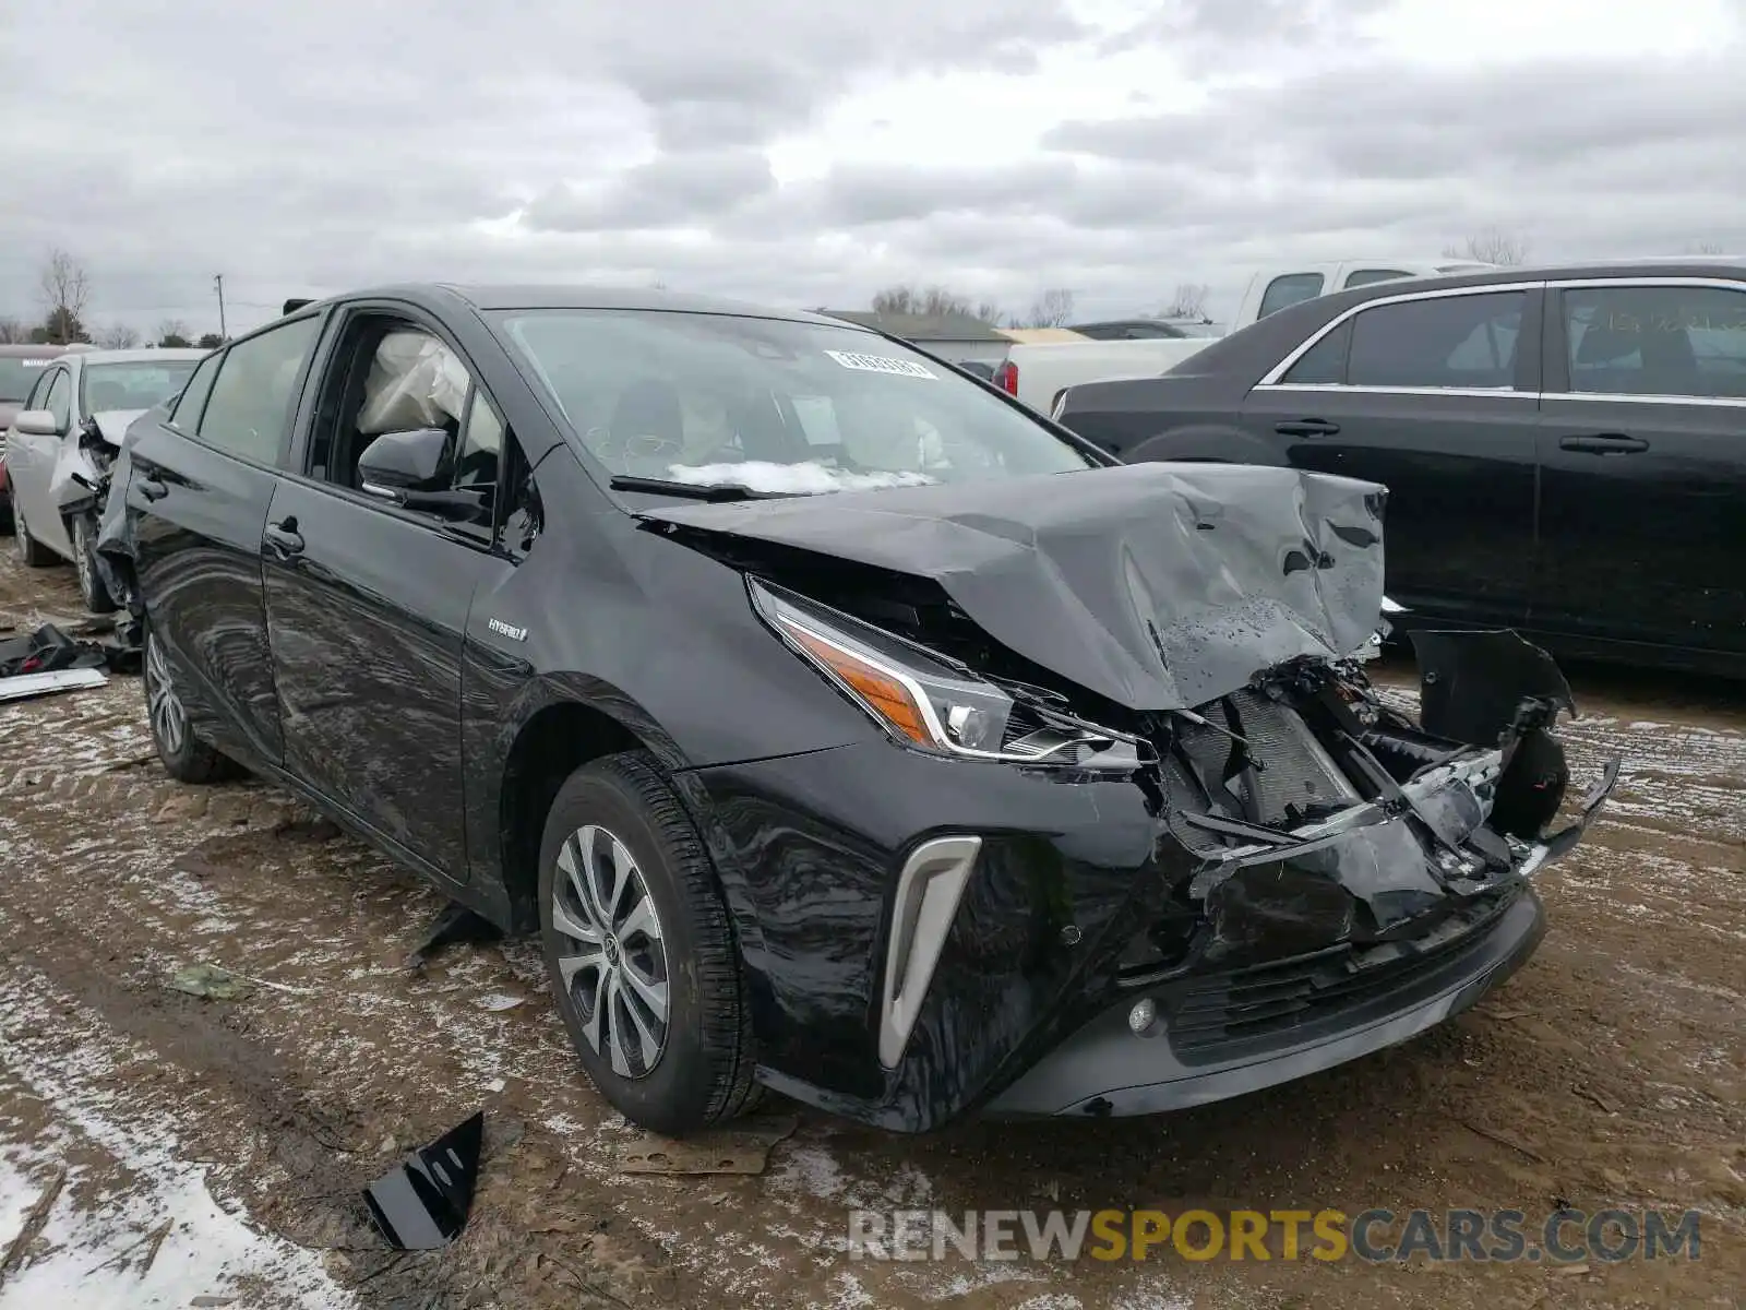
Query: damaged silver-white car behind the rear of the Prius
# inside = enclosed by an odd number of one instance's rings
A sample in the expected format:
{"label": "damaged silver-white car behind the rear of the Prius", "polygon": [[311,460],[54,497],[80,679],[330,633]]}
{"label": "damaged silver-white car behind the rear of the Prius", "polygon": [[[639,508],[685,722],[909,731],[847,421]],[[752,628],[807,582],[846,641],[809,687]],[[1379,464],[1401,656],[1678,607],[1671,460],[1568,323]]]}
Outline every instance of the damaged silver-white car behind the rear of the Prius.
{"label": "damaged silver-white car behind the rear of the Prius", "polygon": [[94,613],[115,599],[96,561],[96,489],[127,424],[175,396],[203,349],[66,351],[37,370],[7,431],[7,480],[19,559],[42,568],[68,559]]}

